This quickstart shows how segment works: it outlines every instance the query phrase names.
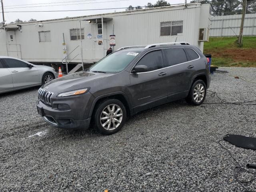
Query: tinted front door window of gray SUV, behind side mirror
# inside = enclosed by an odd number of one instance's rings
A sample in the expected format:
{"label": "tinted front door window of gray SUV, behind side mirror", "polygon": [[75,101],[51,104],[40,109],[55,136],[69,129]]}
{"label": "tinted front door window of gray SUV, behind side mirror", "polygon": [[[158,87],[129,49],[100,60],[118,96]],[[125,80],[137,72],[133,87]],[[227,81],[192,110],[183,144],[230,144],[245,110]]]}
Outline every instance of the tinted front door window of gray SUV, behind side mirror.
{"label": "tinted front door window of gray SUV, behind side mirror", "polygon": [[157,50],[146,54],[142,59],[137,63],[137,65],[145,65],[148,67],[147,71],[154,71],[164,67],[162,51]]}

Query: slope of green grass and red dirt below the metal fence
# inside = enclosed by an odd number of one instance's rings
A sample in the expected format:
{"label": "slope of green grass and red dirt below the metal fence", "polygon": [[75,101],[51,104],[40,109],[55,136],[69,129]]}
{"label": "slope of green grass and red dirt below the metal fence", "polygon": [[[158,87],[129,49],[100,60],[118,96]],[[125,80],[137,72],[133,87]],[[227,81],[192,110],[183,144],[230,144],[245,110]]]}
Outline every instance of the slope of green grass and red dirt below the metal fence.
{"label": "slope of green grass and red dirt below the metal fence", "polygon": [[204,54],[212,54],[214,66],[256,67],[256,37],[243,37],[239,48],[236,37],[210,38],[204,43]]}

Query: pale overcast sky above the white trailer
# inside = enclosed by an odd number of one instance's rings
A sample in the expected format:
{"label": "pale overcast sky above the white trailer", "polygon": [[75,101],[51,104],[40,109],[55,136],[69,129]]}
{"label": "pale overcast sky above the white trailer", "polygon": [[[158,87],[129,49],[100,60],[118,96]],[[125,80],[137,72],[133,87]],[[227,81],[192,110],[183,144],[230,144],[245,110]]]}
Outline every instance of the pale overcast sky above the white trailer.
{"label": "pale overcast sky above the white trailer", "polygon": [[[3,0],[4,18],[6,23],[20,20],[48,20],[56,18],[65,18],[73,16],[85,16],[92,14],[101,14],[115,12],[112,10],[90,10],[90,11],[69,11],[69,12],[11,12],[11,11],[42,11],[42,10],[81,10],[81,9],[102,9],[102,8],[122,8],[132,6],[145,6],[148,2],[155,4],[157,0]],[[60,3],[63,2],[63,3]],[[170,4],[184,3],[185,0],[167,0]],[[190,0],[188,0],[190,2]],[[49,4],[50,3],[50,4]],[[24,5],[32,4],[32,5]],[[19,6],[16,6],[19,5]],[[22,5],[22,6],[21,6]],[[39,7],[31,7],[39,6]],[[23,8],[18,8],[23,7]],[[26,7],[26,8],[24,8]],[[116,9],[116,12],[125,9]],[[1,11],[2,12],[2,11]],[[0,22],[2,22],[2,13]]]}

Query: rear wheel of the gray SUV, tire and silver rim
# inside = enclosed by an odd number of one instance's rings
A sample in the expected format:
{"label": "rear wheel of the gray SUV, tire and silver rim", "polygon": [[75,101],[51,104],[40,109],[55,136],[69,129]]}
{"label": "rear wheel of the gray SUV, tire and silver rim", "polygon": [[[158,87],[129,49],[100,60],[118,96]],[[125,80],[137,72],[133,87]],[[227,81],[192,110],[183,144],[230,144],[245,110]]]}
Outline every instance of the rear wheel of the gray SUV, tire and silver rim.
{"label": "rear wheel of the gray SUV, tire and silver rim", "polygon": [[188,104],[199,106],[201,105],[206,98],[206,85],[202,80],[196,80],[189,91],[186,102]]}

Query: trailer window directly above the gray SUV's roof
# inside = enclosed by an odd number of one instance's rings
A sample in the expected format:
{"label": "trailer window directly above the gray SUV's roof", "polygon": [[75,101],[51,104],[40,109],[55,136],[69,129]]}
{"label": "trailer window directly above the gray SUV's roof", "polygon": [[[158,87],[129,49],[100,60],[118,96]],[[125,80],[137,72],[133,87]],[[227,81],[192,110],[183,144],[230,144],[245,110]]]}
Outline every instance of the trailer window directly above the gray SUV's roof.
{"label": "trailer window directly above the gray SUV's roof", "polygon": [[177,35],[183,32],[183,21],[170,21],[160,23],[160,36]]}

